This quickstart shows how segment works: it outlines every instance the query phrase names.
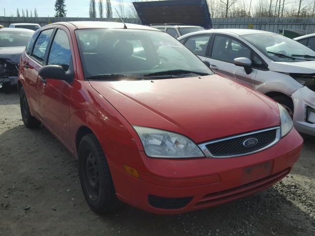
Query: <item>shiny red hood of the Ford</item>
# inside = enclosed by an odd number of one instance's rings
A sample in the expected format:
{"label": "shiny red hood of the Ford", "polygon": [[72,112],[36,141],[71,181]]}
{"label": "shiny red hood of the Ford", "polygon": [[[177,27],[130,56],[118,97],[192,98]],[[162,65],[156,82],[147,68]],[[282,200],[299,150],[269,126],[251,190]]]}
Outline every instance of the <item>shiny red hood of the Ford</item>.
{"label": "shiny red hood of the Ford", "polygon": [[199,78],[90,84],[131,125],[181,133],[196,143],[280,125],[278,105],[266,96],[218,75]]}

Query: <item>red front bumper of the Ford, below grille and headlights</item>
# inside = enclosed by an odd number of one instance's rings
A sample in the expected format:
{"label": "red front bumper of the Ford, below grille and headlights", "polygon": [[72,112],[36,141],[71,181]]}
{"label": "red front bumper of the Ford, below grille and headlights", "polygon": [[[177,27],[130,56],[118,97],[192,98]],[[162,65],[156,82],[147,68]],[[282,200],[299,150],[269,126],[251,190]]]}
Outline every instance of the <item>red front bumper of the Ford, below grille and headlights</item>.
{"label": "red front bumper of the Ford, below grille and headlights", "polygon": [[[294,128],[271,148],[233,158],[149,158],[142,151],[115,142],[102,143],[104,150],[112,150],[105,154],[117,197],[157,214],[180,214],[212,207],[264,189],[289,173],[302,146],[303,140]],[[245,168],[266,162],[271,163],[269,175],[244,182]],[[140,177],[128,175],[124,165],[136,169]],[[177,208],[156,207],[169,204],[177,204]]]}

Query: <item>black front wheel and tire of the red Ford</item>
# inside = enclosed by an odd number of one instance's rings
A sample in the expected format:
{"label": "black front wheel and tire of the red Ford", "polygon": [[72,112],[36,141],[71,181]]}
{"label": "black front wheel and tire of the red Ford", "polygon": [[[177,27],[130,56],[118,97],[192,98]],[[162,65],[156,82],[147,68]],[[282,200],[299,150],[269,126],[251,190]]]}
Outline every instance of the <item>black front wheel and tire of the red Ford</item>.
{"label": "black front wheel and tire of the red Ford", "polygon": [[104,152],[94,134],[85,135],[78,148],[82,190],[89,206],[98,214],[116,209],[119,200]]}

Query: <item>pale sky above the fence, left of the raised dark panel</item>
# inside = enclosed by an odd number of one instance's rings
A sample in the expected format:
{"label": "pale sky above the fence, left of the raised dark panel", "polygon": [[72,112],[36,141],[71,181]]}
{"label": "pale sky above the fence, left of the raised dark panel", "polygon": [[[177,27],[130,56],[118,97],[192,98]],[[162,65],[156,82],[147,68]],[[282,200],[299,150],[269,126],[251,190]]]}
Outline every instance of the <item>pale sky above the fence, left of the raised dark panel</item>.
{"label": "pale sky above the fence, left of the raised dark panel", "polygon": [[[103,4],[106,0],[103,0]],[[112,7],[117,6],[119,0],[112,0]],[[16,8],[26,8],[34,10],[36,8],[39,17],[52,17],[55,14],[55,2],[56,0],[0,0],[0,16],[5,15],[16,16]],[[98,1],[96,0],[96,3]],[[130,7],[132,0],[122,0],[125,4],[125,9]],[[65,0],[67,9],[67,17],[89,17],[89,4],[90,0]],[[97,5],[96,5],[97,10]],[[116,12],[113,11],[114,16]],[[98,14],[98,13],[97,13]]]}

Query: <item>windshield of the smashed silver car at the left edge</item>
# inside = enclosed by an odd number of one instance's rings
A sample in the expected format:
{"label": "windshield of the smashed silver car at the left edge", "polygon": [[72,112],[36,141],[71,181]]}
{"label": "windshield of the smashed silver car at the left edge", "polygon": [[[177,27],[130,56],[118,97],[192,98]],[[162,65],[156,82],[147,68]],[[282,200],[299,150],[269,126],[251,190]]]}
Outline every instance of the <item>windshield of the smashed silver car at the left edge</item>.
{"label": "windshield of the smashed silver car at the left edge", "polygon": [[32,32],[2,32],[0,31],[0,47],[26,46]]}

